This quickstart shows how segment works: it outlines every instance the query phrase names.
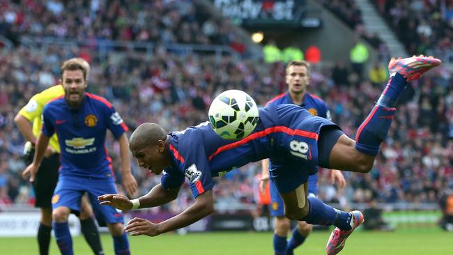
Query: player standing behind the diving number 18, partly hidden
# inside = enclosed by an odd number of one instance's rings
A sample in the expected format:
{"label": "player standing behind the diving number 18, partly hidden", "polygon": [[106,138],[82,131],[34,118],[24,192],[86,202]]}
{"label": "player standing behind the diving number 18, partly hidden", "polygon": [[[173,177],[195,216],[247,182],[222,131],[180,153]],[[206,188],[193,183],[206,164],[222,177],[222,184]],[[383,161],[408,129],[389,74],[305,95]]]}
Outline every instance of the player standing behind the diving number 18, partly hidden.
{"label": "player standing behind the diving number 18, partly hidden", "polygon": [[[310,65],[305,61],[291,61],[286,65],[286,84],[288,91],[272,98],[267,105],[282,105],[294,104],[304,107],[313,116],[320,116],[331,121],[330,111],[325,105],[325,102],[312,93],[307,93],[307,86],[310,82]],[[261,190],[263,190],[269,181],[269,160],[262,161],[261,172]],[[339,170],[330,171],[332,180],[337,180],[339,187],[346,185],[346,180]],[[314,174],[308,178],[308,196],[318,195],[318,175]],[[270,216],[275,217],[273,247],[274,254],[293,254],[293,249],[302,245],[313,226],[306,222],[298,222],[298,225],[293,229],[293,234],[289,241],[286,240],[291,221],[284,217],[283,200],[279,195],[277,187],[273,182],[270,182]]]}

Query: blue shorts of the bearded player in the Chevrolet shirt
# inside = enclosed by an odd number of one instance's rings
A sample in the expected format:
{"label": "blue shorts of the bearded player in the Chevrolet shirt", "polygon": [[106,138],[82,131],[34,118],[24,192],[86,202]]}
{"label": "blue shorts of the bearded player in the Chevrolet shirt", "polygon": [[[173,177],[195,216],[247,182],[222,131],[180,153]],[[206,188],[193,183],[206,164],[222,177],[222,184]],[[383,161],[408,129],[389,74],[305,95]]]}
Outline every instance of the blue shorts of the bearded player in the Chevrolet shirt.
{"label": "blue shorts of the bearded player in the Chevrolet shirt", "polygon": [[97,216],[105,219],[107,223],[124,223],[123,213],[112,206],[101,206],[98,196],[103,194],[116,194],[116,186],[113,178],[86,178],[80,176],[59,176],[54,196],[52,197],[52,209],[66,206],[72,211],[80,212],[80,203],[84,193],[88,193]]}

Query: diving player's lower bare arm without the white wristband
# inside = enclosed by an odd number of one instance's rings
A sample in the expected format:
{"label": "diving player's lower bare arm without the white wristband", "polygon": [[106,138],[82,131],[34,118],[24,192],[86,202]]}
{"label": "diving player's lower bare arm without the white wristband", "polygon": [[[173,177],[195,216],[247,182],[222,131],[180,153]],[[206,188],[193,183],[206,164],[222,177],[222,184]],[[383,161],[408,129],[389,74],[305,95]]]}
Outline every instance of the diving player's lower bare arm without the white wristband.
{"label": "diving player's lower bare arm without the white wristband", "polygon": [[164,222],[155,224],[146,219],[134,218],[125,226],[125,231],[131,235],[155,236],[167,233],[176,229],[189,226],[194,222],[210,215],[214,211],[213,191],[208,190],[197,196],[192,206],[185,209],[180,214],[167,219]]}

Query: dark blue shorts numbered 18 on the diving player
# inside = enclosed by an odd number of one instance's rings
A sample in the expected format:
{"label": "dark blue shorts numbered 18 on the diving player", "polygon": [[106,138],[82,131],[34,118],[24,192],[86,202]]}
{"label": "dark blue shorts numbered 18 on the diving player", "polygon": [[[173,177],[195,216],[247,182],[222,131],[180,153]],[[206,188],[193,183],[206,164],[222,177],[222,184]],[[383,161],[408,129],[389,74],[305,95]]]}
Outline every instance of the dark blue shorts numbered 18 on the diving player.
{"label": "dark blue shorts numbered 18 on the diving player", "polygon": [[[312,116],[295,105],[270,105],[266,108],[272,117],[274,128],[282,130],[270,135],[270,143],[275,148],[269,157],[272,165],[269,169],[270,178],[279,192],[291,192],[318,171],[318,139],[321,129],[337,125],[325,118]],[[330,155],[330,151],[327,155]]]}

